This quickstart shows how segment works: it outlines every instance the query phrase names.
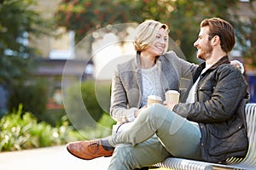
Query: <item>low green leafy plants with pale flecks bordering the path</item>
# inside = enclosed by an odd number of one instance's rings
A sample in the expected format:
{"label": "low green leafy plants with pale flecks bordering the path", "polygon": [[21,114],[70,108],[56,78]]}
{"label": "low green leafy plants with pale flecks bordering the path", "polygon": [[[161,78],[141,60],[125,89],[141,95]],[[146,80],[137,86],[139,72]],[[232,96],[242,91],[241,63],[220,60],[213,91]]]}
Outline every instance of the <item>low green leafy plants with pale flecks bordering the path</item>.
{"label": "low green leafy plants with pale flecks bordering the path", "polygon": [[90,136],[90,139],[102,138],[111,134],[115,123],[108,113],[103,113],[97,127],[87,127],[83,132],[78,132],[69,126],[67,116],[62,116],[60,124],[52,127],[46,122],[38,122],[30,112],[23,112],[22,105],[19,105],[16,112],[0,120],[0,151],[67,144],[84,140],[84,136]]}

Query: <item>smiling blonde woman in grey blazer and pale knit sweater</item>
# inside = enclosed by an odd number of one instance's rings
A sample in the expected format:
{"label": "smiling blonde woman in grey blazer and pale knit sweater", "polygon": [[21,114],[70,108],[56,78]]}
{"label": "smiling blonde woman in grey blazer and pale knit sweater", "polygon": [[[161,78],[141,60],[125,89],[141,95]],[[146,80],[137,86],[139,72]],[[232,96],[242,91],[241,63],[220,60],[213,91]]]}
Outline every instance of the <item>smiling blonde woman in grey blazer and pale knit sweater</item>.
{"label": "smiling blonde woman in grey blazer and pale knit sweater", "polygon": [[137,26],[135,59],[117,65],[113,76],[110,114],[119,124],[132,122],[148,95],[165,99],[166,90],[179,90],[180,79],[191,78],[197,65],[179,59],[168,48],[168,26],[147,20]]}

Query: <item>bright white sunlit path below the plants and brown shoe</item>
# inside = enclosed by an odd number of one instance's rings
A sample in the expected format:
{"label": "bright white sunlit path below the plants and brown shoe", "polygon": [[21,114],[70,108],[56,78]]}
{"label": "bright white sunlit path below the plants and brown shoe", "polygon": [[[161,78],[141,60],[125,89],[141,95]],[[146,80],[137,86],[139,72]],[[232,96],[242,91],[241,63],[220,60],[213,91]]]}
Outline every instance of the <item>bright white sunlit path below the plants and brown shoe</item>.
{"label": "bright white sunlit path below the plants and brown shoe", "polygon": [[107,170],[111,157],[84,161],[70,155],[65,145],[0,152],[0,170]]}

